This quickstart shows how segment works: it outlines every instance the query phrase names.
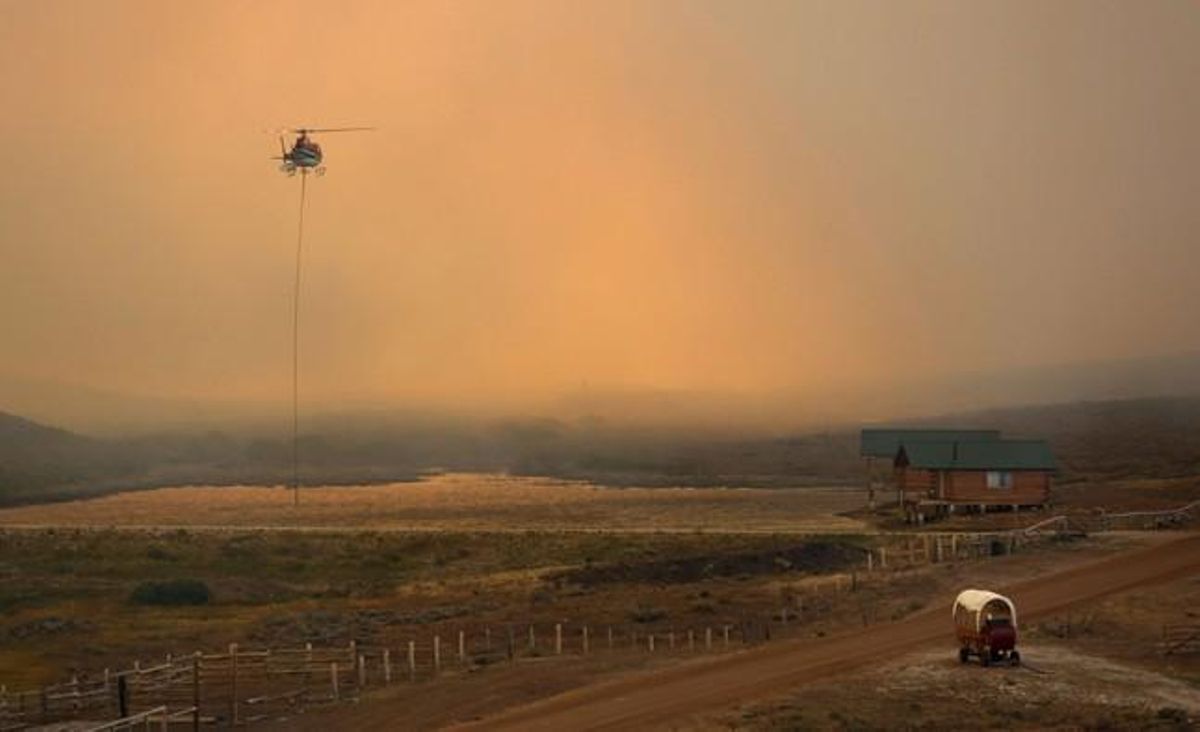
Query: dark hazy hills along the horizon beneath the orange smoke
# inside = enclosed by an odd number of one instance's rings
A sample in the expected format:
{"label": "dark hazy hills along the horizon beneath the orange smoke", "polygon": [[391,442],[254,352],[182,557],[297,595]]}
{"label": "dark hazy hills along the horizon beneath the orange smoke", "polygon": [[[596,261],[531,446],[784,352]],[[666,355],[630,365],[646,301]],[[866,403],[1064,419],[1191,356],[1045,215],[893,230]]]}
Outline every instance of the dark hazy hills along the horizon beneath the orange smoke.
{"label": "dark hazy hills along the horizon beneath the orange smoke", "polygon": [[[858,432],[764,436],[638,427],[602,419],[316,420],[301,437],[305,484],[409,480],[424,470],[506,470],[607,485],[857,484]],[[1200,475],[1200,397],[1109,400],[922,418],[896,426],[992,427],[1050,440],[1062,480]],[[182,484],[283,484],[278,433],[158,432],[92,438],[0,413],[0,504]]]}

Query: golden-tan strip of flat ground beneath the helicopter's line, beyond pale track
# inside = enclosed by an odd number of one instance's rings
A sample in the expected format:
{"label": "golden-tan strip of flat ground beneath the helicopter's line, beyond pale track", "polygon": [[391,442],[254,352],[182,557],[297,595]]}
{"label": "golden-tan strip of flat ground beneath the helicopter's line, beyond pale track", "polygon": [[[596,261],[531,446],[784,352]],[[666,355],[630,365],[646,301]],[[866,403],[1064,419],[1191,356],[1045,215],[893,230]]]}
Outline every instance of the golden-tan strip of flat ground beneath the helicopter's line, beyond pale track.
{"label": "golden-tan strip of flat ground beneath the helicopter's line, beyond pale track", "polygon": [[197,486],[0,510],[0,526],[377,530],[854,533],[852,488],[606,488],[581,481],[448,474],[419,482],[302,488]]}

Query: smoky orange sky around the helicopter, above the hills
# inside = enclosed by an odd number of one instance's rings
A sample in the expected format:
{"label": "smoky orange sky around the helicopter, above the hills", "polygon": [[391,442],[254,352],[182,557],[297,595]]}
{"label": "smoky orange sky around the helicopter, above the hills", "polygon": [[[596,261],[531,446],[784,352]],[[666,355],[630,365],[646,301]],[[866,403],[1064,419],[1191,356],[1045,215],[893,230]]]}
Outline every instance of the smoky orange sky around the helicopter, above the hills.
{"label": "smoky orange sky around the helicopter, above the hills", "polygon": [[[0,374],[521,404],[1200,348],[1200,4],[0,0]],[[0,404],[4,408],[4,404]]]}

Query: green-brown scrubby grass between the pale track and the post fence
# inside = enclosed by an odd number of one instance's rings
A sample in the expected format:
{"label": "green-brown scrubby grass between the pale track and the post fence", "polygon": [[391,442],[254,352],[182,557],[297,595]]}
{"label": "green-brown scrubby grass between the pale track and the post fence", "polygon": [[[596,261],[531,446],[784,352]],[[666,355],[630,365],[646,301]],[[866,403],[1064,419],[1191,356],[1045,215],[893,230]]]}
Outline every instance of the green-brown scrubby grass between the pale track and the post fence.
{"label": "green-brown scrubby grass between the pale track and the post fence", "polygon": [[[230,642],[398,643],[404,632],[427,634],[438,623],[733,622],[779,602],[773,583],[781,577],[857,565],[862,541],[703,533],[0,529],[0,683],[22,688]],[[589,568],[610,571],[589,575]],[[144,582],[180,580],[205,583],[211,600],[187,607],[134,600]]]}

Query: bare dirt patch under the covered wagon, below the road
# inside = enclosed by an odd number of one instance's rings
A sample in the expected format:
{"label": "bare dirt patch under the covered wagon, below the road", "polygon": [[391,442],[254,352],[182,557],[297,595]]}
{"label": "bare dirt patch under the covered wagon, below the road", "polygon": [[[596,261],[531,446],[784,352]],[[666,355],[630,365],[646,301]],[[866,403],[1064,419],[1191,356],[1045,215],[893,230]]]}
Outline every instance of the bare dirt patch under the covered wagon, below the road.
{"label": "bare dirt patch under the covered wagon, below the road", "polygon": [[[785,701],[712,718],[724,730],[1175,728],[1200,715],[1200,691],[1163,673],[1079,653],[1025,647],[1019,668],[962,666],[929,650],[804,686]],[[970,724],[967,724],[970,720]]]}

